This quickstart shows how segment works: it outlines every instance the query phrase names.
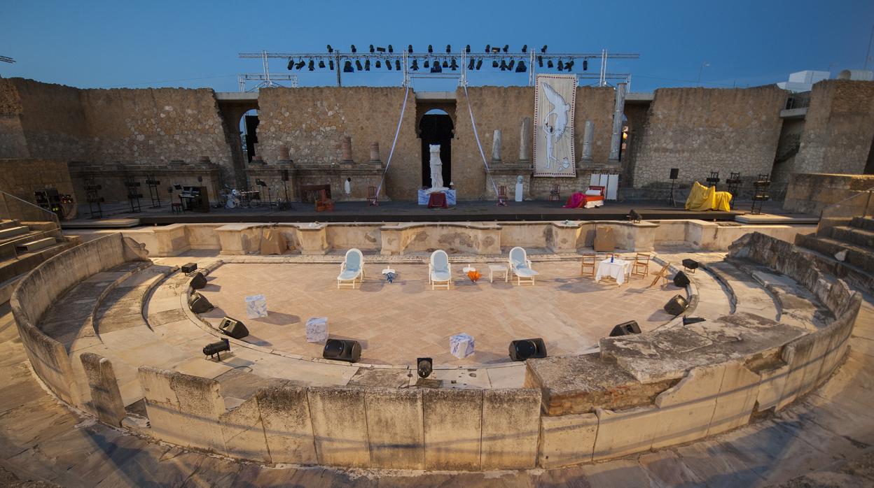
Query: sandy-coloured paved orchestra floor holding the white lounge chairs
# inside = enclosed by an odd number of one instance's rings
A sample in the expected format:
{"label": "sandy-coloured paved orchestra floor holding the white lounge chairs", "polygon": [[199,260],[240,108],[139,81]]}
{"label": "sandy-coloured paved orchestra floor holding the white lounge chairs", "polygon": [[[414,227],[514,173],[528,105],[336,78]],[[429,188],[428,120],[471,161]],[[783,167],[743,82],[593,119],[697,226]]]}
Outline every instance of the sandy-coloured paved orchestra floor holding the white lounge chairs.
{"label": "sandy-coloured paved orchestra floor holding the white lounge chairs", "polygon": [[[306,341],[310,317],[328,317],[330,337],[361,343],[362,362],[414,364],[433,357],[443,365],[510,361],[510,340],[542,337],[550,355],[579,354],[597,345],[616,324],[637,320],[648,331],[671,319],[662,310],[680,292],[673,284],[646,286],[652,278],[624,285],[579,277],[579,263],[535,263],[537,285],[510,285],[503,278],[472,283],[453,264],[452,290],[431,290],[427,265],[396,265],[399,276],[388,284],[385,265],[365,265],[360,289],[336,289],[338,265],[228,264],[209,277],[201,292],[224,315],[243,320],[253,344],[293,354],[321,357],[321,344]],[[651,265],[650,273],[660,266]],[[246,318],[247,295],[264,294],[269,315]],[[449,354],[449,336],[474,336],[475,354],[464,360]]]}

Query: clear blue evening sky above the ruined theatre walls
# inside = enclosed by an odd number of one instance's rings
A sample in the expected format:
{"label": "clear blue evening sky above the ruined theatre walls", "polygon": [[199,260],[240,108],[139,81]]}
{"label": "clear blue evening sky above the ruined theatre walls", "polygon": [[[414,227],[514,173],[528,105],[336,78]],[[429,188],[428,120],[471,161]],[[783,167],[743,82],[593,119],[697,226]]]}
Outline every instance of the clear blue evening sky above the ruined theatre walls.
{"label": "clear blue evening sky above the ruined theatre walls", "polygon": [[[359,52],[413,44],[549,45],[551,52],[640,53],[612,61],[632,90],[758,86],[805,69],[861,69],[874,1],[732,2],[7,2],[0,16],[0,76],[79,87],[212,87],[237,91],[236,75],[260,72],[239,52]],[[276,59],[271,71],[288,73]],[[594,65],[594,66],[593,66]],[[874,60],[869,62],[869,68]],[[579,68],[579,63],[577,64]],[[590,64],[589,70],[597,69]],[[327,70],[299,75],[301,86],[331,85]],[[470,85],[524,85],[525,73],[483,69]],[[344,85],[399,86],[385,69],[344,76]],[[581,84],[585,84],[581,82]],[[417,79],[417,90],[454,90],[451,79]]]}

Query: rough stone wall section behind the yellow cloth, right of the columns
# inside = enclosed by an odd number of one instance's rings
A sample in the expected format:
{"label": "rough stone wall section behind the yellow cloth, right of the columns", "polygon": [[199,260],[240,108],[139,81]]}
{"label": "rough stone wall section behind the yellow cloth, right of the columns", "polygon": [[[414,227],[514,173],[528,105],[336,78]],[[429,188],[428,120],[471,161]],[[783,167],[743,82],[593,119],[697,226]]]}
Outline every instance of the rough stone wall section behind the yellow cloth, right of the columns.
{"label": "rough stone wall section behind the yellow cloth, right of the columns", "polygon": [[787,92],[777,86],[746,89],[661,88],[635,143],[634,186],[704,182],[711,171],[725,181],[731,171],[752,181],[769,174],[780,137]]}

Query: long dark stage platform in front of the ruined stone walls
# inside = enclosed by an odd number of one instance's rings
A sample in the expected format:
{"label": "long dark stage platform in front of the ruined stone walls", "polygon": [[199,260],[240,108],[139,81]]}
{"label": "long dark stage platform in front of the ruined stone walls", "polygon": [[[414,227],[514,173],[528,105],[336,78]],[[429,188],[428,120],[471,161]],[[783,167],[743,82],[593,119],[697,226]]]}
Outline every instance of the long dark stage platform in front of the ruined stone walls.
{"label": "long dark stage platform in front of the ruined stone walls", "polygon": [[[80,209],[79,218],[62,223],[66,228],[108,228],[112,221],[128,226],[132,220],[140,225],[169,223],[295,223],[295,222],[494,222],[494,221],[562,221],[562,220],[627,220],[632,209],[645,220],[701,219],[734,221],[749,212],[749,203],[740,202],[736,210],[686,211],[663,201],[635,200],[607,203],[595,209],[565,209],[562,203],[548,201],[511,202],[499,207],[495,202],[461,201],[449,209],[428,209],[414,202],[381,202],[369,206],[366,202],[338,202],[334,211],[316,212],[312,203],[295,203],[293,210],[276,210],[264,205],[244,209],[210,209],[207,213],[174,214],[170,207],[143,209],[131,213],[128,204],[106,205],[103,219],[91,220],[87,207]],[[84,211],[83,211],[84,210]],[[787,215],[773,204],[766,211]],[[807,216],[805,216],[807,217]]]}

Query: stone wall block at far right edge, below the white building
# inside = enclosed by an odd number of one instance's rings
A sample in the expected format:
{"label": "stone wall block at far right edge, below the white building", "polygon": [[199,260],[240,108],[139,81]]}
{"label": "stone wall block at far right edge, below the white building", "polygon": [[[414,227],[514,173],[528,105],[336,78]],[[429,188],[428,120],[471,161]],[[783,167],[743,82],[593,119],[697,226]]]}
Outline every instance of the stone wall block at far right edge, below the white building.
{"label": "stone wall block at far right edge, below the white building", "polygon": [[872,143],[874,81],[820,81],[811,92],[795,172],[862,173]]}

